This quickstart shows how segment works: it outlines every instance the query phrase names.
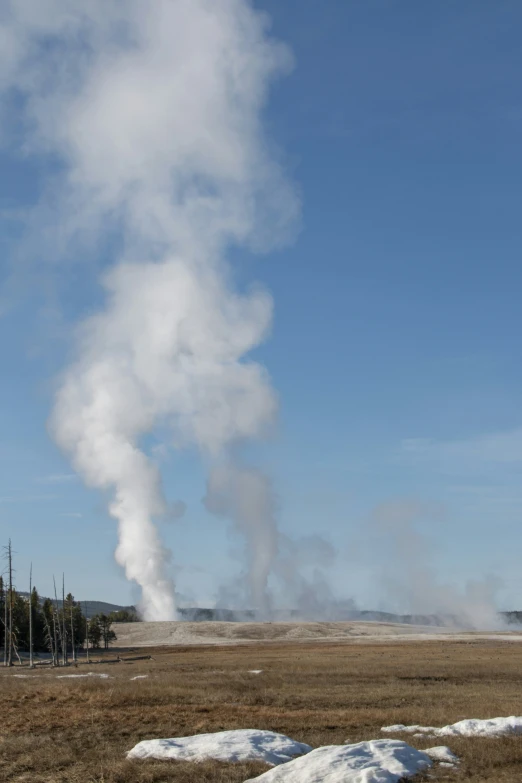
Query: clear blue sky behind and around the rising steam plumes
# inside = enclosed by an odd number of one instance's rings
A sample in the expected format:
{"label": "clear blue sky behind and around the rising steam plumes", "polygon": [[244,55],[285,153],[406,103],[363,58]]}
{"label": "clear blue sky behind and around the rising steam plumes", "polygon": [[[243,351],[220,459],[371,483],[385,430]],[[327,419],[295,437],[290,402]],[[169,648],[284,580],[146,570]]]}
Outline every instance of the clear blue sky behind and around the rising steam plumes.
{"label": "clear blue sky behind and around the rising steam plumes", "polygon": [[[275,301],[256,358],[280,396],[279,429],[256,453],[281,528],[331,541],[336,594],[386,608],[368,520],[409,499],[438,580],[496,576],[499,605],[521,608],[522,8],[256,5],[295,56],[265,122],[303,202],[294,244],[235,259],[240,283],[261,281]],[[54,165],[4,148],[0,214],[36,203]],[[44,593],[65,570],[78,597],[127,603],[105,499],[46,431],[71,325],[99,304],[110,258],[26,273],[19,224],[5,217],[1,232],[2,540],[21,587],[32,560]],[[203,508],[195,455],[170,453],[162,472],[188,506],[162,526],[179,590],[208,603],[241,568],[235,542]]]}

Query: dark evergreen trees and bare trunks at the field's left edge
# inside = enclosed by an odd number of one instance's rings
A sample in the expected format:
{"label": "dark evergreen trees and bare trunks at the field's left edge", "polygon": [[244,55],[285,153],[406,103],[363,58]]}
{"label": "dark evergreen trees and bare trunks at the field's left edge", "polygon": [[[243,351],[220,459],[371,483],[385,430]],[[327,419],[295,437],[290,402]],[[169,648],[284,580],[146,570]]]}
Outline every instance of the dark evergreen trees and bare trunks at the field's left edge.
{"label": "dark evergreen trees and bare trunks at the field's left edge", "polygon": [[21,661],[21,652],[29,653],[31,665],[35,653],[50,654],[53,665],[66,665],[76,661],[80,650],[88,656],[89,650],[107,650],[116,640],[112,629],[115,613],[87,618],[80,602],[70,592],[65,593],[64,578],[60,598],[55,583],[54,599],[41,600],[32,585],[31,568],[29,592],[17,591],[13,584],[11,541],[5,553],[7,569],[5,576],[0,576],[0,647],[4,666],[11,666],[15,658]]}

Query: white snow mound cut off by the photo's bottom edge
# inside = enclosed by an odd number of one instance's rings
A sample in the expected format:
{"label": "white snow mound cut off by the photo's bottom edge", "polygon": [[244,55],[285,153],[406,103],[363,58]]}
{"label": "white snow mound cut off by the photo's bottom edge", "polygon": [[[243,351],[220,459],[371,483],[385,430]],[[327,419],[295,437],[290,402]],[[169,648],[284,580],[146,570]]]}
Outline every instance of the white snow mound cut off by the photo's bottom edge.
{"label": "white snow mound cut off by the photo's bottom edge", "polygon": [[405,742],[372,740],[317,748],[246,783],[397,783],[431,765],[426,753]]}

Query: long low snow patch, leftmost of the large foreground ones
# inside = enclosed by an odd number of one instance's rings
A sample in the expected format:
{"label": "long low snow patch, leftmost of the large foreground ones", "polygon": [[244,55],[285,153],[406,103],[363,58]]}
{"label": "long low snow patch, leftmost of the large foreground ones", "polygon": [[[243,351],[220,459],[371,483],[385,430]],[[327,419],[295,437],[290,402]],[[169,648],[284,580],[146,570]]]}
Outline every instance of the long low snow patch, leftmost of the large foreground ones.
{"label": "long low snow patch, leftmost of the large foreground ones", "polygon": [[274,765],[283,764],[310,750],[310,745],[295,742],[284,734],[258,729],[238,729],[219,731],[215,734],[198,734],[193,737],[144,740],[127,753],[127,758],[264,761],[266,764]]}

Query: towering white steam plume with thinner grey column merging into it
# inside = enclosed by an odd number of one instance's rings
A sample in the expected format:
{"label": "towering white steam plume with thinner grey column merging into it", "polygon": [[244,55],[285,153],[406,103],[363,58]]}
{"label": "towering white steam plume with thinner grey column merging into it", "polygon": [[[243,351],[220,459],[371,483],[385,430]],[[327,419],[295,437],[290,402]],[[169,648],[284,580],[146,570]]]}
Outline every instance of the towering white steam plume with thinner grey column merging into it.
{"label": "towering white steam plume with thinner grey column merging into it", "polygon": [[161,476],[142,448],[156,427],[211,466],[207,506],[246,536],[250,600],[263,609],[277,549],[270,488],[233,447],[276,411],[247,358],[272,302],[234,287],[226,252],[286,241],[298,216],[261,127],[291,57],[248,0],[7,0],[0,25],[0,86],[23,105],[24,149],[58,164],[34,221],[57,216],[57,253],[118,247],[51,433],[85,483],[110,493],[116,559],[141,586],[145,619],[176,616],[155,525]]}

